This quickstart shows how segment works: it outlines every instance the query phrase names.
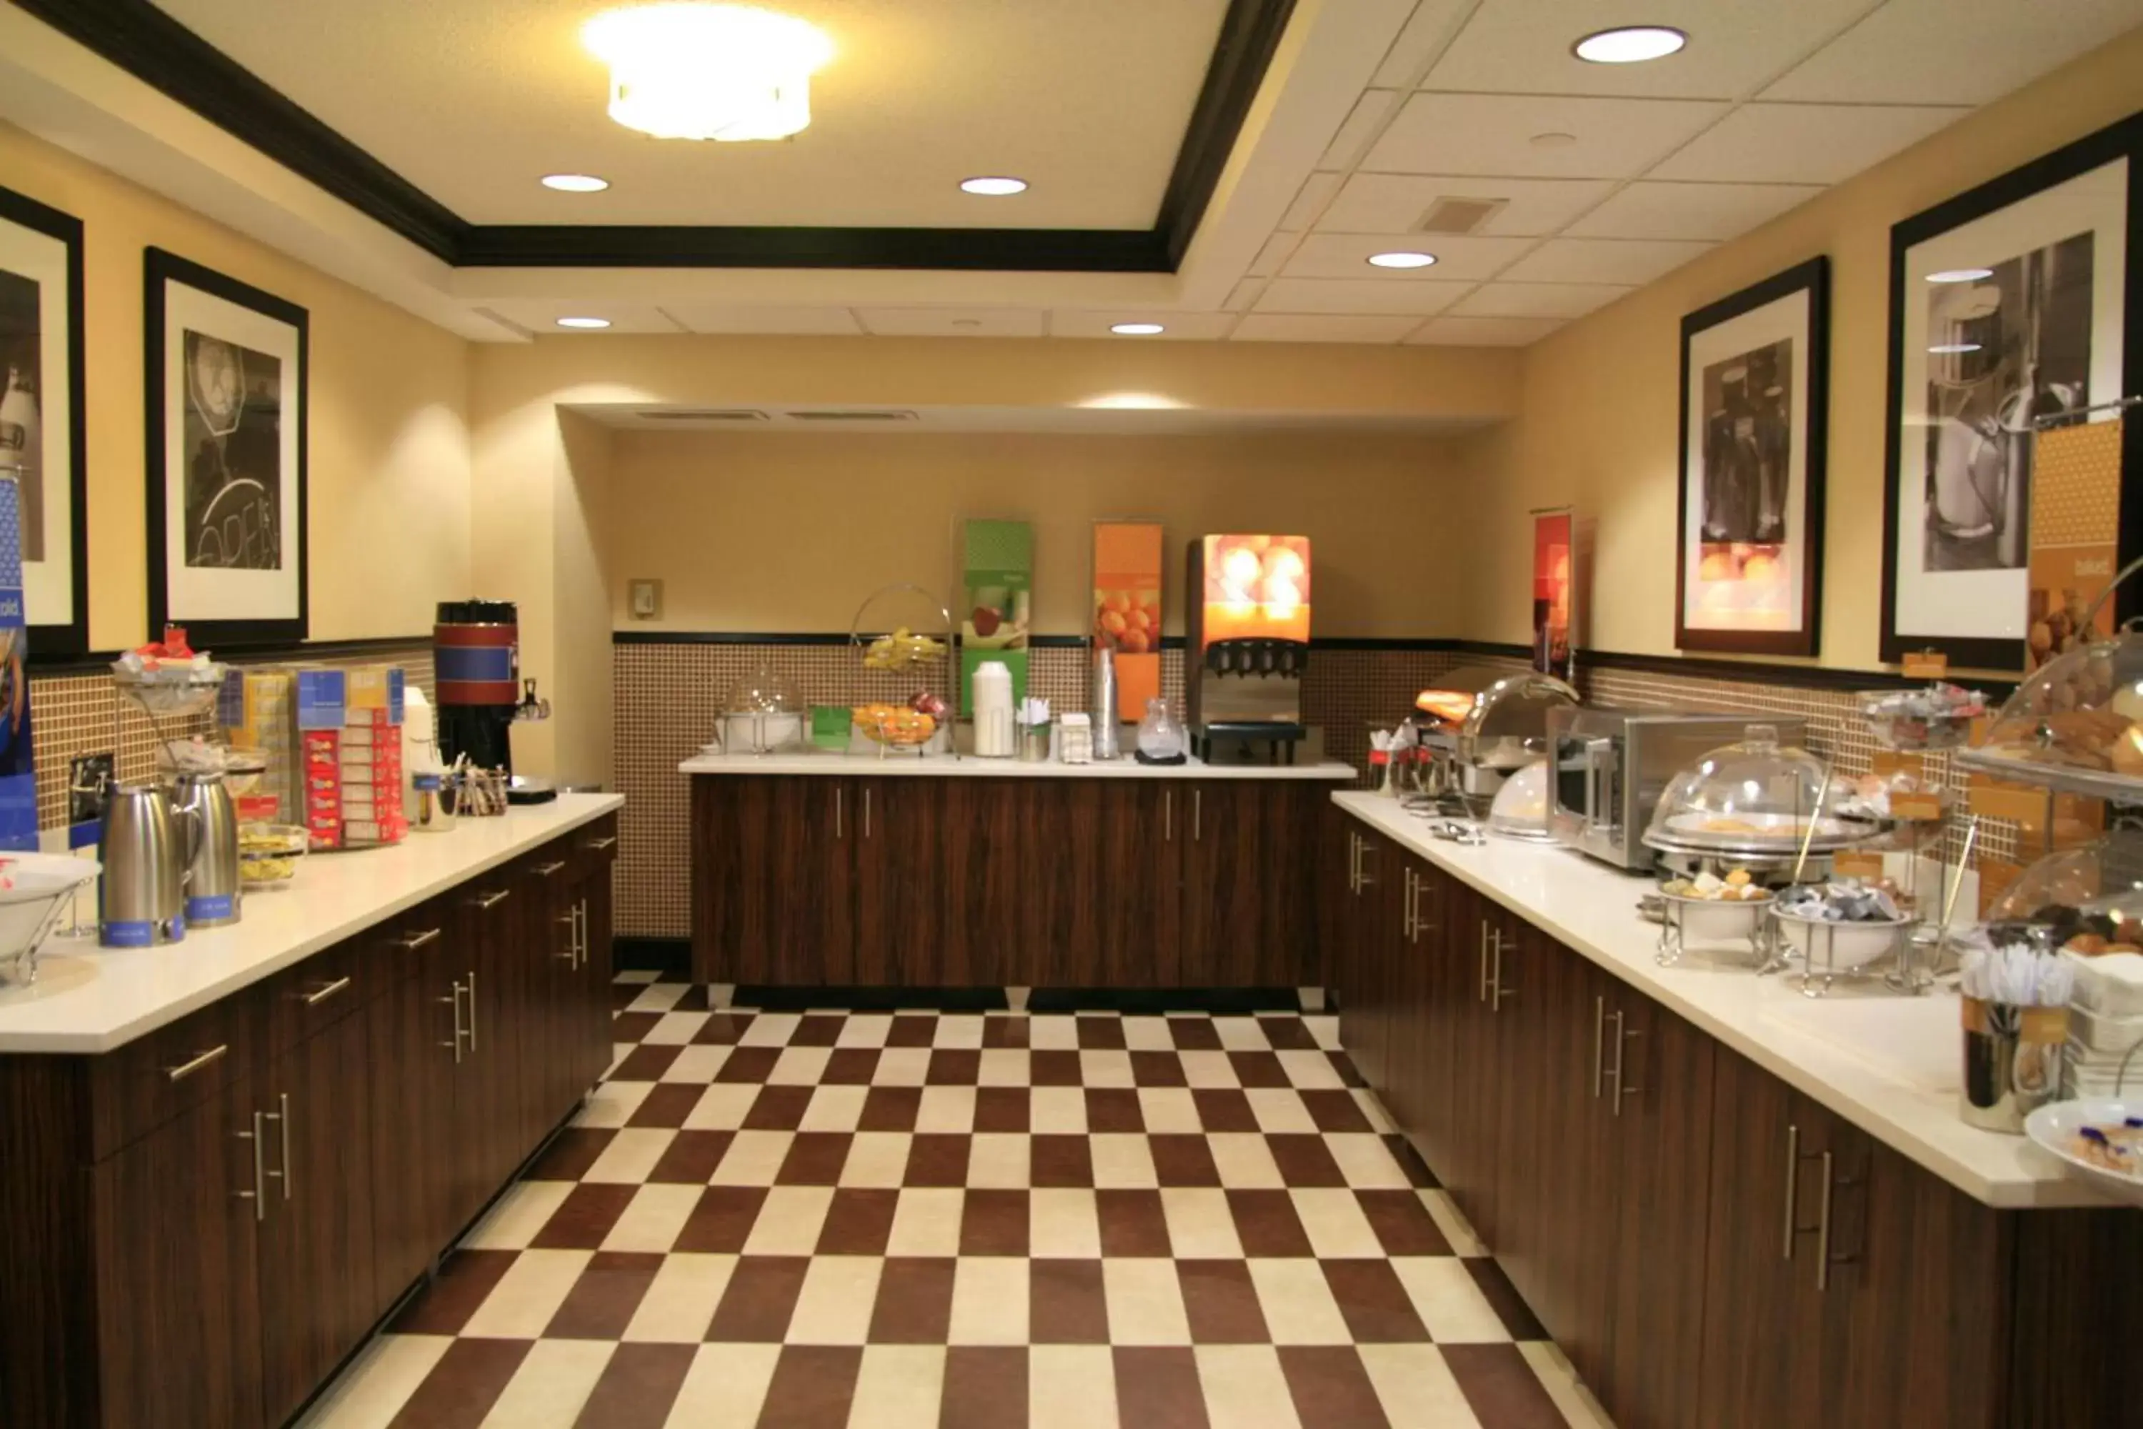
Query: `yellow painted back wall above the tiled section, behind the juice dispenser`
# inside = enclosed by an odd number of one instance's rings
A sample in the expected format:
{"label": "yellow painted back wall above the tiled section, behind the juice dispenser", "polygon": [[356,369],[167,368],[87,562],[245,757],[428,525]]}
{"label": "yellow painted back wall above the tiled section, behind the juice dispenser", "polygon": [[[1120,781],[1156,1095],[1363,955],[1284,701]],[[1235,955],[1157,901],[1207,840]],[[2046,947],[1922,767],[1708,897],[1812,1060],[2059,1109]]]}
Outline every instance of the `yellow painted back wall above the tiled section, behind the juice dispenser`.
{"label": "yellow painted back wall above the tiled section, behind the juice dispenser", "polygon": [[[1209,531],[1312,538],[1318,634],[1457,634],[1462,527],[1444,441],[1414,435],[617,433],[619,630],[846,630],[872,589],[956,600],[956,516],[1035,523],[1035,630],[1087,630],[1097,518],[1162,521],[1168,630],[1183,546]],[[636,621],[626,581],[664,583]]]}

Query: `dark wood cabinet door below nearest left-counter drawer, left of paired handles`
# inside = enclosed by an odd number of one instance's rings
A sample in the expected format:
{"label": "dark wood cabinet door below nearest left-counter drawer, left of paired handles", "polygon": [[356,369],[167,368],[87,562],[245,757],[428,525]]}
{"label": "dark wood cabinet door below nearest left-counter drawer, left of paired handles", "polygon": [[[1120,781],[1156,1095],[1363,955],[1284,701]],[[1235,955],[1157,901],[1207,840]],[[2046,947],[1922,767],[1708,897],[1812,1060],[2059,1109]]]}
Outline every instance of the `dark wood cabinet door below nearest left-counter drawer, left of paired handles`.
{"label": "dark wood cabinet door below nearest left-counter drawer, left of paired handles", "polygon": [[261,1425],[253,1101],[234,1080],[90,1174],[107,1429]]}

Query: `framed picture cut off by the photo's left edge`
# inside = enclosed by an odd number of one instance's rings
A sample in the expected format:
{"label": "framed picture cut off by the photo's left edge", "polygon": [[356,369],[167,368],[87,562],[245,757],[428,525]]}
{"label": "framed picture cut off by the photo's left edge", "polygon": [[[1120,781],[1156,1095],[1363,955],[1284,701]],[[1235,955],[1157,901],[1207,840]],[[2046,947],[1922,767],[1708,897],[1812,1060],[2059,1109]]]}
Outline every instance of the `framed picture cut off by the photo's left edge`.
{"label": "framed picture cut off by the photo's left edge", "polygon": [[0,189],[0,467],[13,467],[36,656],[90,647],[81,221]]}

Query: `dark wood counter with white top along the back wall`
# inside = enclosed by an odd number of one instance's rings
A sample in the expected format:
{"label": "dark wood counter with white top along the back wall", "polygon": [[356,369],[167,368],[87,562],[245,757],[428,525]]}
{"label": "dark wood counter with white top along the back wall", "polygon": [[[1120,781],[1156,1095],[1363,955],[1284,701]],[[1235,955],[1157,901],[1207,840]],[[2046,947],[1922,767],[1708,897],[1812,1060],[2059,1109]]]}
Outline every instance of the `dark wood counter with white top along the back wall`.
{"label": "dark wood counter with white top along the back wall", "polygon": [[797,754],[681,771],[696,981],[1324,983],[1303,851],[1348,765]]}

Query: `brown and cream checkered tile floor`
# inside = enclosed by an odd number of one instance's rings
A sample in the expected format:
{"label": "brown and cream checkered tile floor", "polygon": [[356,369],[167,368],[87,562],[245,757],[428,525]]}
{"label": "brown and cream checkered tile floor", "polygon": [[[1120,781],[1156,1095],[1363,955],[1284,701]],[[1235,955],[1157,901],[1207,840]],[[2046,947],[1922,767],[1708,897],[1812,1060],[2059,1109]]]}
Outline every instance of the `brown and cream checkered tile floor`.
{"label": "brown and cream checkered tile floor", "polygon": [[1605,1423],[1331,1018],[617,1003],[309,1427]]}

